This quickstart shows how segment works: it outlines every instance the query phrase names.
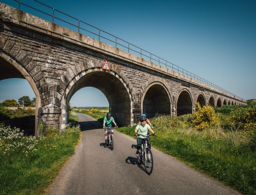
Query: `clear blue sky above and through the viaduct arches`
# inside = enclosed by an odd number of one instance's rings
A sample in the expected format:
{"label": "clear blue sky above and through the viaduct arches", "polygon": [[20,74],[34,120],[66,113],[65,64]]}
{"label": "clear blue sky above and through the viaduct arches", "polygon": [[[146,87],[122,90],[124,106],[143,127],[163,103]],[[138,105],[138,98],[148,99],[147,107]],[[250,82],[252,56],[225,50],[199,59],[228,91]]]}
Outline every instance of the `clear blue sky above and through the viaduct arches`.
{"label": "clear blue sky above and through the viaduct arches", "polygon": [[[13,0],[0,1],[17,7]],[[31,0],[23,2],[36,6]],[[43,2],[240,97],[256,98],[256,1]],[[21,9],[24,10],[24,6]],[[25,11],[43,17],[32,10]],[[51,13],[49,9],[43,11]],[[11,82],[0,81],[1,92]],[[29,87],[24,87],[22,93],[26,90],[27,94],[31,93]],[[97,91],[94,88],[79,90],[71,99],[72,105],[96,106],[102,102],[106,103],[102,106],[107,105],[104,95]],[[1,93],[0,101],[14,97],[14,93],[16,96],[16,88],[8,88],[6,93]],[[102,99],[87,99],[95,95]]]}

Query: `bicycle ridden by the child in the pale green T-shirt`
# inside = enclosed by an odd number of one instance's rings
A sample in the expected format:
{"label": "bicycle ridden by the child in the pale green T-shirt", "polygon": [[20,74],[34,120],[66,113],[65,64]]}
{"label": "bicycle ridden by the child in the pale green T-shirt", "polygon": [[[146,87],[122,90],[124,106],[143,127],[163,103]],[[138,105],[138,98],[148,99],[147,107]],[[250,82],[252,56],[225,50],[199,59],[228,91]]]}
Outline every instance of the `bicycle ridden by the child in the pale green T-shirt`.
{"label": "bicycle ridden by the child in the pale green T-shirt", "polygon": [[[140,136],[140,134],[137,134],[137,136]],[[153,165],[154,165],[153,154],[151,152],[151,149],[149,148],[150,146],[148,146],[148,143],[147,143],[150,136],[156,136],[156,135],[151,134],[151,135],[144,136],[146,140],[145,139],[142,140],[142,144],[139,150],[139,156],[137,156],[137,159],[140,165],[144,161],[145,170],[149,175],[152,173]]]}

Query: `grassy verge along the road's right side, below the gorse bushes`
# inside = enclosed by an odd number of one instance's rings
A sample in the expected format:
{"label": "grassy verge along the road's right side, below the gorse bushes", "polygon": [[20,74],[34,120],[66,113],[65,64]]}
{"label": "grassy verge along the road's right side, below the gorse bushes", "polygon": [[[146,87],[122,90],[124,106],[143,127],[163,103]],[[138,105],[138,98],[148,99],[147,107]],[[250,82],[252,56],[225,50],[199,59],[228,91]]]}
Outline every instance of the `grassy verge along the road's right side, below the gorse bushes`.
{"label": "grassy verge along the road's right side, below the gorse bushes", "polygon": [[[100,120],[100,115],[87,114]],[[229,117],[225,114],[223,120]],[[226,122],[221,121],[218,127],[197,130],[191,126],[191,117],[151,119],[158,135],[152,137],[152,145],[241,193],[256,194],[256,129],[225,130]],[[116,130],[134,137],[134,129]]]}

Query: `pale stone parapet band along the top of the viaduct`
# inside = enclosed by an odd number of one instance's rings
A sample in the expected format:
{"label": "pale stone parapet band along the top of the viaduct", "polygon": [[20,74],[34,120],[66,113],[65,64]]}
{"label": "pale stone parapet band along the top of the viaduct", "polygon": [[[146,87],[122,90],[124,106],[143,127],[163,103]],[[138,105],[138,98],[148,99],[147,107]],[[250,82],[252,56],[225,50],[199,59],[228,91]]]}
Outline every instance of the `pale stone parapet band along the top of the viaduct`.
{"label": "pale stone parapet band along the top of the viaduct", "polygon": [[105,55],[127,61],[129,63],[144,67],[146,69],[159,72],[161,74],[171,76],[173,78],[179,79],[184,82],[192,83],[194,85],[209,89],[211,91],[217,92],[224,96],[231,97],[246,103],[246,101],[244,101],[243,99],[240,99],[235,96],[231,96],[227,93],[224,93],[220,90],[217,90],[213,87],[210,87],[199,81],[189,78],[185,75],[182,75],[180,73],[177,73],[165,67],[157,65],[153,62],[150,62],[148,60],[145,60],[143,58],[140,58],[128,52],[125,52],[121,49],[118,49],[116,47],[103,43],[101,41],[90,38],[86,35],[80,34],[78,32],[62,27],[60,25],[54,24],[45,19],[28,14],[24,11],[19,11],[18,9],[8,6],[1,2],[0,2],[0,15],[2,20],[5,22],[11,22],[16,25],[31,29],[33,31],[44,33],[49,36],[65,40],[67,42],[77,44],[79,46],[87,47],[91,50],[95,50]]}

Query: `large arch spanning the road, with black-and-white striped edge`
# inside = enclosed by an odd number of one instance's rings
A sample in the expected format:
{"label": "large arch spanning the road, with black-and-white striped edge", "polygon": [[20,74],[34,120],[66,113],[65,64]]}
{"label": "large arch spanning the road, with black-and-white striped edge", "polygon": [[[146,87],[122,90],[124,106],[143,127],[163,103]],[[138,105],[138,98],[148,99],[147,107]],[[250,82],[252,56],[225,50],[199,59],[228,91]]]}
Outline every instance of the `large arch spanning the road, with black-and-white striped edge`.
{"label": "large arch spanning the road, with black-and-white striped edge", "polygon": [[[108,81],[107,85],[105,84]],[[116,72],[93,68],[82,71],[68,84],[61,100],[62,119],[60,129],[68,122],[68,102],[79,89],[95,87],[108,99],[109,111],[119,126],[130,125],[132,120],[132,96],[126,82]]]}

